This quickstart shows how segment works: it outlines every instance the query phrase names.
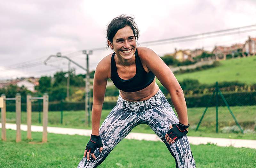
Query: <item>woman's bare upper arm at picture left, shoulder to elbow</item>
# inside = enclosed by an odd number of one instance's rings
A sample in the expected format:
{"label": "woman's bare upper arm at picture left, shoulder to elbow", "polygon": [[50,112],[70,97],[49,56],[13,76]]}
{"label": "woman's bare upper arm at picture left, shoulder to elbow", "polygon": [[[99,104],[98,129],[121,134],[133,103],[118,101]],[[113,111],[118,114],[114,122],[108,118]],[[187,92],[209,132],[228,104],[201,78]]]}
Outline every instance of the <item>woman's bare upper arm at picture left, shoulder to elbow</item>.
{"label": "woman's bare upper arm at picture left, shoulder to elbow", "polygon": [[106,92],[108,73],[108,60],[103,58],[97,65],[93,79],[93,104],[103,104]]}

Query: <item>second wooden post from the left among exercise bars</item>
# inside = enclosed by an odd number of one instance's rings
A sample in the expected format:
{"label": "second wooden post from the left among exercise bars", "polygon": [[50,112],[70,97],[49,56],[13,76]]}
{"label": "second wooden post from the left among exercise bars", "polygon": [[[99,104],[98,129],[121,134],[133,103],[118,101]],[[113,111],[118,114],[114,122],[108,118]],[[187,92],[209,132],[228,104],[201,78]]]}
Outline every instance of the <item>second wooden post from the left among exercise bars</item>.
{"label": "second wooden post from the left among exercise bars", "polygon": [[21,96],[16,94],[16,142],[21,141],[20,137],[20,123],[21,123]]}

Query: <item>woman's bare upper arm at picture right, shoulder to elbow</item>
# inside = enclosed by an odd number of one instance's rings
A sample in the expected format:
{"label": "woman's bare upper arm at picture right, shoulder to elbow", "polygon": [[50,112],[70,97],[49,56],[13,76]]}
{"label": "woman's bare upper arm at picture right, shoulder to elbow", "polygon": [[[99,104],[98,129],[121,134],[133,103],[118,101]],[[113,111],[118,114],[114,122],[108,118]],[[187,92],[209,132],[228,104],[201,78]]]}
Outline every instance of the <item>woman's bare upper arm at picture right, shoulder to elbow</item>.
{"label": "woman's bare upper arm at picture right, shoulder to elbow", "polygon": [[180,84],[171,69],[164,63],[164,61],[156,55],[156,53],[146,47],[140,47],[140,58],[146,64],[148,69],[156,75],[156,78],[169,91],[179,91]]}

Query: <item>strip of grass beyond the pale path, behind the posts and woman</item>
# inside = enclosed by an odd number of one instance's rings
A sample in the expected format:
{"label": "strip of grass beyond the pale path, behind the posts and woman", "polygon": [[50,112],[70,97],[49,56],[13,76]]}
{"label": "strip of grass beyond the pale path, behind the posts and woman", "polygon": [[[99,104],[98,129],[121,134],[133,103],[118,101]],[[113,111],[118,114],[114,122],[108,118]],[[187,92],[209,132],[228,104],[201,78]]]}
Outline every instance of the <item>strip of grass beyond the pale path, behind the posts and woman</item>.
{"label": "strip of grass beyond the pale path, behind the posts and woman", "polygon": [[[238,138],[238,139],[256,139],[255,132],[252,132],[255,126],[256,120],[256,106],[234,106],[231,107],[236,119],[240,125],[244,128],[246,134],[236,134],[236,133],[221,133],[221,128],[224,126],[232,126],[235,124],[231,114],[227,110],[227,107],[219,107],[219,132],[215,133],[215,123],[216,123],[216,112],[215,107],[208,108],[204,119],[199,127],[198,131],[195,131],[196,125],[199,122],[204,108],[188,108],[188,118],[190,123],[189,136],[206,136],[206,137],[221,137],[221,138]],[[101,115],[100,124],[107,117],[109,110],[103,110]],[[38,112],[32,113],[32,124],[42,125],[38,123]],[[43,116],[43,115],[41,115]],[[6,114],[7,123],[15,123],[15,113],[7,112]],[[86,120],[87,122],[87,120]],[[26,113],[22,112],[22,123],[26,124]],[[63,124],[60,124],[60,111],[52,112],[48,114],[48,126],[58,126],[58,127],[70,127],[70,128],[81,128],[81,129],[91,129],[88,124],[85,124],[85,114],[84,111],[64,111],[63,112]],[[238,127],[237,127],[238,128]],[[251,130],[251,131],[248,131]],[[139,133],[152,133],[154,132],[151,128],[145,124],[141,124],[135,127],[132,132]]]}

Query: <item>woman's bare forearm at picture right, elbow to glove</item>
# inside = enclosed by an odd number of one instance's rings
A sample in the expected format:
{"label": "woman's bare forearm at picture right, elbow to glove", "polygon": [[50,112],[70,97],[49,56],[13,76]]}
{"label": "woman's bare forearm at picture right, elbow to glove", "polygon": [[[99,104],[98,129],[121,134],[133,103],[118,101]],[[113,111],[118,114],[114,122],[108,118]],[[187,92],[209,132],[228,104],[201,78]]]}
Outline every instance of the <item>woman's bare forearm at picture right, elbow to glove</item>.
{"label": "woman's bare forearm at picture right, elbow to glove", "polygon": [[170,95],[180,123],[188,125],[188,112],[183,90],[180,88],[175,91],[170,91]]}

